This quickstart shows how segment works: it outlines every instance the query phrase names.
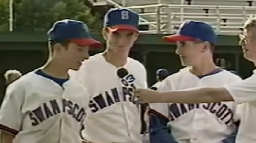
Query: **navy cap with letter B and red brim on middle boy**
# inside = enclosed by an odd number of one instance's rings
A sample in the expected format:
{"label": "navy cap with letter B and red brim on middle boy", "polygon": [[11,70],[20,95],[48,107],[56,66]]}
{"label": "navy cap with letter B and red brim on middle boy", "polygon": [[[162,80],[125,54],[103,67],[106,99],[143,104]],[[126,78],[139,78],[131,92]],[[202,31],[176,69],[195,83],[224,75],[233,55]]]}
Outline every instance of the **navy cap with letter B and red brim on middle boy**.
{"label": "navy cap with letter B and red brim on middle boy", "polygon": [[139,32],[139,15],[125,8],[110,9],[105,14],[104,27],[109,27],[112,32],[118,30]]}

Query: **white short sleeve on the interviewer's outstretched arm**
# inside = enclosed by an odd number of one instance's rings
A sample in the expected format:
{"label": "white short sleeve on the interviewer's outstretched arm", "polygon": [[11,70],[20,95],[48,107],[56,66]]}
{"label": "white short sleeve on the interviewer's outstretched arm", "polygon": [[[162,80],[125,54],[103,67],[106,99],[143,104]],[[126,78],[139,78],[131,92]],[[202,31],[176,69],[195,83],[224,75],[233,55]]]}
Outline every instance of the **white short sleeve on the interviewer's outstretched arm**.
{"label": "white short sleeve on the interviewer's outstretched arm", "polygon": [[224,85],[237,104],[256,101],[256,74],[234,84]]}

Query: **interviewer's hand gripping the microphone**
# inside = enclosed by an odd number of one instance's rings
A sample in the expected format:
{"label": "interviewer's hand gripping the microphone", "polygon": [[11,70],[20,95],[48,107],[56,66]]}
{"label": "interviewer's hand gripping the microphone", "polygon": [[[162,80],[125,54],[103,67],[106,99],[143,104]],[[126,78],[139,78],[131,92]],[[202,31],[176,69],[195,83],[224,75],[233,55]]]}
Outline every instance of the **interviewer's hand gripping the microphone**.
{"label": "interviewer's hand gripping the microphone", "polygon": [[161,102],[161,92],[151,89],[136,89],[134,95],[143,103]]}

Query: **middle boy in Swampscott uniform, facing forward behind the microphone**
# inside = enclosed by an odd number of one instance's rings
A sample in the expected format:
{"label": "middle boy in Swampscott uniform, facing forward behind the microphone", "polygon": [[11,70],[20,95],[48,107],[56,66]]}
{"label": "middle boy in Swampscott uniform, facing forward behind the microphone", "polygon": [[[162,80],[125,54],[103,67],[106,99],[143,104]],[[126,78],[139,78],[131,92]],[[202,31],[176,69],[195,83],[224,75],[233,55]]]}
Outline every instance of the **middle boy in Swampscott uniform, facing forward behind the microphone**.
{"label": "middle boy in Swampscott uniform, facing forward behind the microphone", "polygon": [[[102,35],[106,50],[91,56],[79,71],[71,71],[90,95],[84,139],[96,143],[139,143],[141,121],[133,102],[134,88],[117,76],[125,68],[135,87],[145,88],[146,70],[129,52],[139,36],[139,15],[129,9],[114,8],[104,17]],[[73,73],[72,73],[73,72]]]}

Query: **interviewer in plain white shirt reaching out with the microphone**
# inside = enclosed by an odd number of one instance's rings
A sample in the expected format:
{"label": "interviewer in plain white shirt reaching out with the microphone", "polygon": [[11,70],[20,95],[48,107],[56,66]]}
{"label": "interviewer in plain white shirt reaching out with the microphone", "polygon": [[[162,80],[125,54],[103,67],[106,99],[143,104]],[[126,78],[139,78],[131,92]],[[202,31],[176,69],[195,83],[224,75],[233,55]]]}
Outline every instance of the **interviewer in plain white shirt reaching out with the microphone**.
{"label": "interviewer in plain white shirt reaching out with the microphone", "polygon": [[[244,57],[256,65],[256,17],[248,19],[244,24],[243,35],[240,35]],[[256,142],[256,71],[245,80],[222,87],[204,87],[186,91],[153,91],[139,89],[136,96],[147,103],[219,103],[234,101],[242,104],[241,123],[236,143]],[[207,120],[204,119],[206,122]]]}

